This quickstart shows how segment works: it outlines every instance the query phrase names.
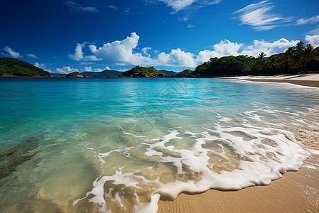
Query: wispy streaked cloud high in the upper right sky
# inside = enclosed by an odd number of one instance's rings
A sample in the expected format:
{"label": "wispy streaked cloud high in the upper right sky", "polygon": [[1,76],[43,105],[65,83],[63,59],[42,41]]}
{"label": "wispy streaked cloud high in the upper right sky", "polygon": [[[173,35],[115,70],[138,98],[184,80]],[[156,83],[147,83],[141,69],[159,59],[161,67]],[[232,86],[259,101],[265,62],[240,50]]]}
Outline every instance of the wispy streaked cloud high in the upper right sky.
{"label": "wispy streaked cloud high in the upper right sky", "polygon": [[245,6],[233,14],[239,13],[238,18],[242,24],[252,26],[254,31],[268,31],[279,26],[279,23],[291,21],[291,18],[283,18],[273,13],[272,9],[273,3],[267,0]]}

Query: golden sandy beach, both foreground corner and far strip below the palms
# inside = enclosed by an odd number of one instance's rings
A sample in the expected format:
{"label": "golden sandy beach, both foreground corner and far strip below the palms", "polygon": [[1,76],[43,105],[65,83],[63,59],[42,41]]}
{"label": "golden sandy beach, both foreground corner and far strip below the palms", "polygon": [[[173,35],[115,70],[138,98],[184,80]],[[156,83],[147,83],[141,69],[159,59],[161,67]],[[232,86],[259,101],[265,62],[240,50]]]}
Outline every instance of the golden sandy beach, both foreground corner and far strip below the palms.
{"label": "golden sandy beach, both foreground corner and far strip below the palms", "polygon": [[[257,82],[286,82],[319,87],[319,75],[233,77]],[[175,200],[159,200],[158,212],[318,212],[319,146],[318,132],[308,132],[301,146],[311,153],[301,170],[287,172],[270,185],[237,191],[208,190],[196,195],[181,193]],[[298,136],[297,136],[298,137]],[[311,148],[311,149],[308,149]]]}

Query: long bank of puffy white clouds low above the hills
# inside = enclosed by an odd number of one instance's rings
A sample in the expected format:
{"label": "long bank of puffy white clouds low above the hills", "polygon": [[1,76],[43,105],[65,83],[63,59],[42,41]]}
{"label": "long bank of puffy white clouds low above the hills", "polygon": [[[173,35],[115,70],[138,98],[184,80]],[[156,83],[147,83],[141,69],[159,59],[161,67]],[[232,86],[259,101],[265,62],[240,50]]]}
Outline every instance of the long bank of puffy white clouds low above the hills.
{"label": "long bank of puffy white clouds low above the hills", "polygon": [[[306,40],[311,40],[311,43],[315,45],[318,43],[318,35],[316,36],[311,37],[307,35]],[[268,56],[282,53],[287,48],[296,45],[299,41],[281,38],[274,42],[254,40],[251,44],[243,44],[225,39],[213,45],[213,50],[202,50],[195,55],[194,53],[183,51],[180,48],[172,49],[169,53],[159,53],[158,50],[145,47],[140,50],[140,53],[134,53],[137,50],[139,39],[140,37],[136,33],[131,33],[131,35],[124,40],[106,43],[99,48],[96,47],[96,45],[89,45],[89,49],[94,56],[102,58],[110,65],[196,67],[210,58],[215,57],[220,58],[228,55],[249,55],[256,57],[261,52],[266,53]],[[148,50],[152,50],[152,52]],[[152,55],[150,53],[152,53]],[[81,54],[78,55],[80,55],[78,58],[82,58],[83,56]],[[86,69],[94,72],[91,66],[86,67]],[[98,71],[96,70],[96,72]]]}

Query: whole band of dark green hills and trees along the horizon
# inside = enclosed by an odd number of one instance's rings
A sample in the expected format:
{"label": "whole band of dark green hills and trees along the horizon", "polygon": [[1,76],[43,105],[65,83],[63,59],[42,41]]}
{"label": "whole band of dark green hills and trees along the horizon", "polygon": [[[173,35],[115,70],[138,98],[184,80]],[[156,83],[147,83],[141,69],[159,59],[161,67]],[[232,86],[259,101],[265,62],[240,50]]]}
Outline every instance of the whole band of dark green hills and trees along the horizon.
{"label": "whole band of dark green hills and trees along the horizon", "polygon": [[319,47],[303,42],[288,48],[284,53],[269,57],[260,53],[257,58],[248,55],[211,58],[195,70],[174,72],[156,70],[155,67],[133,67],[126,72],[50,73],[14,58],[0,58],[0,77],[230,77],[241,75],[291,75],[319,71]]}

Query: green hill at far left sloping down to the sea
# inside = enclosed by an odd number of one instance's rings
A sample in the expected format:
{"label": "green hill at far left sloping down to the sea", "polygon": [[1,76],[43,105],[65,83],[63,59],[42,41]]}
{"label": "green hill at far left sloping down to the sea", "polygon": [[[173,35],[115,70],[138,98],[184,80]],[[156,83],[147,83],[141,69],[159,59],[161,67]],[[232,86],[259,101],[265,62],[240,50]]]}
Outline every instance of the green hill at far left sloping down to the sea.
{"label": "green hill at far left sloping down to the sea", "polygon": [[51,74],[23,60],[0,58],[0,76],[50,77]]}

